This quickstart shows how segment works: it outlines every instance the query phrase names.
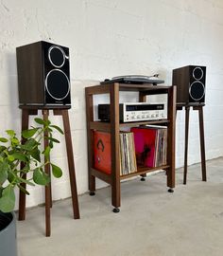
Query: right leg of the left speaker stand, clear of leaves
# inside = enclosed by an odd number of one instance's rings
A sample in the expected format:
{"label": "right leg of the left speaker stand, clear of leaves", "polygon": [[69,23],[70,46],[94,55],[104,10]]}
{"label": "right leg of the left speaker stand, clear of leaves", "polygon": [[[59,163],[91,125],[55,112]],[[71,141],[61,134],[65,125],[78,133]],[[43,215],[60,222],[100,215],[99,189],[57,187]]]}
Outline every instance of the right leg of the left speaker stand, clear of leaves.
{"label": "right leg of the left speaker stand, clear of leaves", "polygon": [[74,218],[79,219],[77,183],[76,183],[75,162],[74,162],[73,147],[72,147],[72,137],[71,137],[71,130],[70,130],[70,120],[68,116],[68,110],[62,110],[61,113],[62,113],[64,135],[65,135],[65,141],[66,141],[66,151],[67,151],[67,158],[68,158]]}

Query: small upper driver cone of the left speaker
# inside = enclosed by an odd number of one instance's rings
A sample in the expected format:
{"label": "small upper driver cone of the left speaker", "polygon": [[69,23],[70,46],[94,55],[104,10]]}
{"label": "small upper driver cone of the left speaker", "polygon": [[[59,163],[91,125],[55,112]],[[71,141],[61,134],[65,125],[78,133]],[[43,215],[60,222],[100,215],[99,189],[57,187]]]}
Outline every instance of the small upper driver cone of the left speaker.
{"label": "small upper driver cone of the left speaker", "polygon": [[65,63],[65,53],[60,46],[51,46],[48,50],[48,59],[55,67],[61,67]]}

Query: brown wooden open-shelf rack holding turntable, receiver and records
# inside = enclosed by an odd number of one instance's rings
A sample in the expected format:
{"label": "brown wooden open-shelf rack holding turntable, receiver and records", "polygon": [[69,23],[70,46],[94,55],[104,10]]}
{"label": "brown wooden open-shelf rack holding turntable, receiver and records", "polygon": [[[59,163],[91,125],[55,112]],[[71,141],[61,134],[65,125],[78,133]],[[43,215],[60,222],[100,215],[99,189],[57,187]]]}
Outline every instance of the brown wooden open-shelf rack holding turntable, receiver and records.
{"label": "brown wooden open-shelf rack holding turntable, receiver and records", "polygon": [[[120,91],[135,91],[139,93],[139,102],[145,102],[148,95],[167,95],[167,119],[132,121],[121,123],[119,121],[119,93]],[[109,94],[111,104],[111,119],[109,122],[94,120],[94,95]],[[89,191],[95,194],[95,177],[111,185],[111,205],[113,211],[118,212],[121,206],[121,180],[140,175],[142,180],[147,173],[157,170],[166,172],[166,185],[168,192],[175,188],[175,122],[176,122],[176,86],[152,85],[152,84],[128,84],[111,82],[89,86],[85,88],[86,116],[87,116],[87,142],[88,142],[88,170],[89,170]],[[161,125],[166,127],[166,158],[161,156],[161,165],[155,167],[137,166],[136,172],[122,174],[120,154],[120,131],[124,127],[142,125]],[[111,143],[111,168],[100,170],[95,165],[94,136],[96,133],[109,133]],[[100,143],[99,143],[100,144]],[[102,145],[98,145],[100,148]],[[159,162],[159,161],[158,161]],[[97,167],[97,168],[96,168]],[[129,185],[130,186],[130,185]]]}

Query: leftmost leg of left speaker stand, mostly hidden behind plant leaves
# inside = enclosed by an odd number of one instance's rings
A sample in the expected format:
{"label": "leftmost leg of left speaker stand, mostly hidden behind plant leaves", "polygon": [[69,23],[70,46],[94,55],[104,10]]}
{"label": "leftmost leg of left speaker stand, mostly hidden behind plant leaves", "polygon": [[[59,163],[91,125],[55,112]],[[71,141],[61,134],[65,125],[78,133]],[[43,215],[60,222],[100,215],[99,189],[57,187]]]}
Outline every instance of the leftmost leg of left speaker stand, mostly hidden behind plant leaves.
{"label": "leftmost leg of left speaker stand, mostly hidden behind plant leaves", "polygon": [[[28,110],[22,110],[22,131],[28,129]],[[26,139],[22,138],[22,143],[24,144]],[[20,169],[24,168],[24,164],[21,164]],[[26,179],[26,174],[23,174],[23,178]],[[26,183],[22,183],[21,186],[26,190]],[[19,191],[19,220],[26,219],[26,193]]]}

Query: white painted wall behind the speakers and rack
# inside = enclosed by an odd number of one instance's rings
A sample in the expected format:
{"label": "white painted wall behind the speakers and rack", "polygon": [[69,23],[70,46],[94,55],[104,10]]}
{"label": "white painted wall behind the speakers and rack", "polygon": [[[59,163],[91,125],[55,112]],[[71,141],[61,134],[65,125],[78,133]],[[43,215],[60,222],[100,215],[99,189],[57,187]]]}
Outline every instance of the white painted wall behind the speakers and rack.
{"label": "white painted wall behind the speakers and rack", "polygon": [[[20,130],[15,47],[46,40],[70,48],[73,108],[69,114],[79,193],[87,191],[84,87],[112,76],[160,73],[170,84],[173,68],[206,65],[206,156],[222,155],[222,17],[220,0],[2,0],[0,134],[9,128]],[[133,99],[130,96],[130,101]],[[62,124],[60,117],[51,119]],[[191,113],[189,164],[200,161],[197,120],[197,113]],[[179,112],[178,167],[183,164],[183,142],[184,114]],[[63,178],[53,180],[54,199],[67,197],[70,190],[63,141],[52,158],[64,169]],[[32,188],[27,205],[42,202],[43,188]]]}

